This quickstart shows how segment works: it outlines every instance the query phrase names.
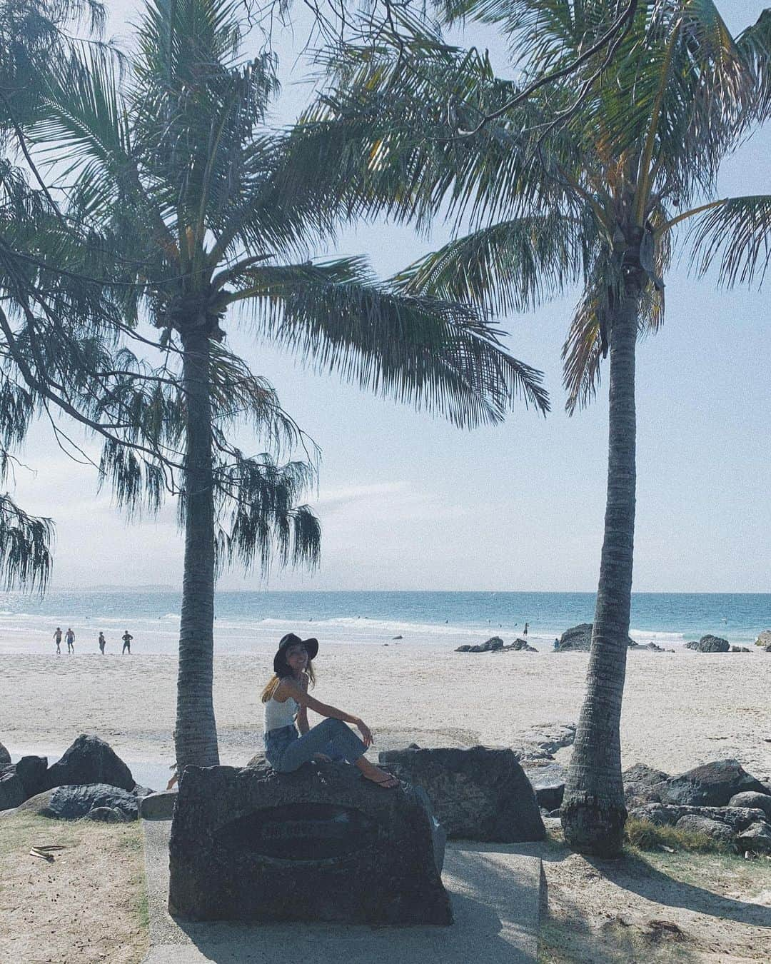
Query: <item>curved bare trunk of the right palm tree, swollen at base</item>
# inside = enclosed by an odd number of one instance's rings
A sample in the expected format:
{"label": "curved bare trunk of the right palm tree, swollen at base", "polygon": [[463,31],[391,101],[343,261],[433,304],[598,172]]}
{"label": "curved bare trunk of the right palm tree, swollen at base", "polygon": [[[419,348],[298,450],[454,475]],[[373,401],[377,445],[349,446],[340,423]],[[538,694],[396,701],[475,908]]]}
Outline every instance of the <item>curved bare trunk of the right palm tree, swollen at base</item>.
{"label": "curved bare trunk of the right palm tree, swollen at base", "polygon": [[634,353],[639,286],[630,281],[611,318],[608,483],[592,649],[562,805],[565,840],[581,853],[617,855],[626,808],[621,706],[632,588],[635,508]]}

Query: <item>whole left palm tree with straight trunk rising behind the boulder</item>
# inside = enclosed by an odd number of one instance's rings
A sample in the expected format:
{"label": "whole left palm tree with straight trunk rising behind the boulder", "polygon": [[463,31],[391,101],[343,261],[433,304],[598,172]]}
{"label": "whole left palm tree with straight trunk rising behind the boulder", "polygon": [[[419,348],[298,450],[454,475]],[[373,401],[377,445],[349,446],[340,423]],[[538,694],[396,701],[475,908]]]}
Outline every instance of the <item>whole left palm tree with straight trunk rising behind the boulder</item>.
{"label": "whole left palm tree with straight trunk rising behind the boulder", "polygon": [[[505,352],[472,308],[378,285],[359,258],[313,262],[330,236],[332,193],[299,177],[294,141],[272,132],[277,91],[269,55],[239,59],[243,21],[229,0],[147,0],[139,48],[120,77],[87,54],[50,82],[41,149],[74,178],[73,201],[111,235],[126,279],[181,362],[185,431],[184,579],[175,728],[176,763],[218,762],[211,698],[215,547],[267,561],[262,502],[279,502],[288,546],[299,486],[223,450],[212,415],[213,355],[230,308],[263,335],[362,387],[425,406],[466,426],[502,418],[515,395],[545,411],[541,376]],[[333,163],[332,155],[325,165]],[[130,297],[126,314],[138,310]],[[243,313],[243,312],[242,312]],[[226,459],[224,460],[224,456]],[[305,481],[305,480],[301,480]],[[218,537],[213,497],[238,490],[231,529]],[[282,501],[281,501],[282,499]],[[291,517],[296,559],[318,552],[302,507]]]}

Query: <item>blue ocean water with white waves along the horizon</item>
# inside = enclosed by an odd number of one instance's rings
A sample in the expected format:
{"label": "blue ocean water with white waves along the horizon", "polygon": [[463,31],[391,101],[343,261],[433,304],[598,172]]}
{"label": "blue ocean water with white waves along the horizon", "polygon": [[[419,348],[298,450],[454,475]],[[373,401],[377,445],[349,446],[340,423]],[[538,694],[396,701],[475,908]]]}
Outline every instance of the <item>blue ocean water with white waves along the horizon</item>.
{"label": "blue ocean water with white waves along the horizon", "polygon": [[[75,631],[76,653],[98,653],[103,630],[107,655],[120,654],[120,636],[128,629],[133,654],[173,654],[179,607],[179,594],[168,591],[70,590],[42,600],[0,594],[0,654],[53,653],[57,626]],[[215,646],[219,653],[251,653],[275,647],[294,631],[325,646],[398,642],[446,648],[493,634],[508,643],[527,622],[531,644],[549,651],[565,629],[591,622],[594,609],[594,593],[223,592],[216,597]],[[762,629],[771,629],[771,594],[632,597],[630,635],[641,643],[678,648],[710,632],[746,646]]]}

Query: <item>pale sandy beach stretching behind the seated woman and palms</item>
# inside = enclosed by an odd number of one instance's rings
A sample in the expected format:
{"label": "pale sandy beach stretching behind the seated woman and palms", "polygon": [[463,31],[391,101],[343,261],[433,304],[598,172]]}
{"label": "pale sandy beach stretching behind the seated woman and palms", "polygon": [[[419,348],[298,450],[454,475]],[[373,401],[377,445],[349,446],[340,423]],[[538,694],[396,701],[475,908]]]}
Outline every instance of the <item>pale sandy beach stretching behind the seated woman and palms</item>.
{"label": "pale sandy beach stretching behind the seated woman and palms", "polygon": [[[259,690],[270,656],[260,649],[255,656],[216,657],[223,763],[246,763],[262,749]],[[505,746],[533,724],[577,719],[587,658],[322,644],[316,695],[359,713],[374,732],[375,753],[412,741]],[[675,773],[735,757],[758,779],[771,780],[770,675],[771,656],[762,652],[630,652],[624,765]],[[12,753],[53,755],[78,734],[93,733],[129,763],[168,765],[175,680],[173,656],[5,656],[0,737]]]}

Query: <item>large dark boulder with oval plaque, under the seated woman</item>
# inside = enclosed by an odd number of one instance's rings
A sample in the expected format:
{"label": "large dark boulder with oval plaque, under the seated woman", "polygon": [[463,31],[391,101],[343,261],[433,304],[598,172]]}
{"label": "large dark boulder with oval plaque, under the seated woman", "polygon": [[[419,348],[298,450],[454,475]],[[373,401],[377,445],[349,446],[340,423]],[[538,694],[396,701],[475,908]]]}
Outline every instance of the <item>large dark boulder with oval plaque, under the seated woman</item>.
{"label": "large dark boulder with oval plaque, under the seated woman", "polygon": [[451,924],[434,829],[425,794],[383,790],[345,763],[187,766],[169,910],[199,921]]}

